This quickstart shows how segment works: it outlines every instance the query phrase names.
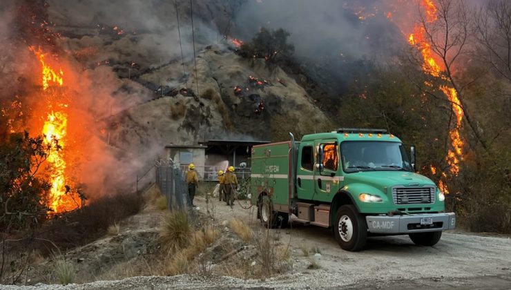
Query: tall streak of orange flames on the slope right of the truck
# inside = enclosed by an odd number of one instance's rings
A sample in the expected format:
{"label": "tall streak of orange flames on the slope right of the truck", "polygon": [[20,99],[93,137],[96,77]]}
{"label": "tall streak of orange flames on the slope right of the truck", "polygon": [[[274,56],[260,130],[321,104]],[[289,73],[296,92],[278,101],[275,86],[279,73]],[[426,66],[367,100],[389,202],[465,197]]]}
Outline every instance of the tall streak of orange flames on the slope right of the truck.
{"label": "tall streak of orange flames on the slope right of the truck", "polygon": [[[414,55],[416,64],[420,64],[423,72],[432,77],[430,81],[419,85],[421,89],[427,95],[449,102],[450,146],[445,160],[449,165],[450,174],[457,176],[465,147],[461,136],[463,119],[472,129],[476,140],[488,151],[488,146],[472,121],[465,104],[464,90],[474,79],[461,77],[464,70],[463,62],[467,60],[465,56],[470,49],[469,16],[463,1],[422,0],[420,4],[419,21],[409,35],[408,42],[420,52]],[[432,167],[433,171],[436,172],[436,168]],[[446,173],[442,172],[440,182],[443,191],[448,192],[443,184],[446,177]]]}

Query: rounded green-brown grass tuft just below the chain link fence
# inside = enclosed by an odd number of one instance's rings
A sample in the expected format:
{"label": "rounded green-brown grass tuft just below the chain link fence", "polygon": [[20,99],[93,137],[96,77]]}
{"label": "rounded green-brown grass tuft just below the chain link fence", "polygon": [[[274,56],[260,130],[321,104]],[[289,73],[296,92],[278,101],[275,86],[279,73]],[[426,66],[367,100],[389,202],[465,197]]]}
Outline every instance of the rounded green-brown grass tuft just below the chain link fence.
{"label": "rounded green-brown grass tuft just below the chain link fence", "polygon": [[160,239],[164,249],[175,251],[188,244],[192,229],[185,211],[173,211],[164,217]]}

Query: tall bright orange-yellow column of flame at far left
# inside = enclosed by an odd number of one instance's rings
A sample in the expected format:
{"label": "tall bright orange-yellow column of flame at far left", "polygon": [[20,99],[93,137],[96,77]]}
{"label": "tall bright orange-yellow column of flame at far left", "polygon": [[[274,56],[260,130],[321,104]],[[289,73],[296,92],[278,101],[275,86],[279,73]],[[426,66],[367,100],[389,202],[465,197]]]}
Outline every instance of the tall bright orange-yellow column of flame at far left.
{"label": "tall bright orange-yellow column of flame at far left", "polygon": [[[51,85],[64,86],[64,72],[59,70],[55,72],[45,61],[45,54],[41,48],[35,50],[33,46],[29,48],[39,59],[41,63],[41,84],[43,90],[48,94],[57,94],[55,91],[48,91]],[[50,99],[48,97],[48,99]],[[61,213],[66,211],[72,211],[79,207],[79,197],[76,193],[70,193],[66,189],[66,160],[64,159],[63,149],[66,147],[66,130],[68,115],[64,111],[68,104],[57,104],[53,106],[48,104],[48,111],[46,121],[42,128],[42,133],[45,137],[46,144],[50,145],[50,153],[46,159],[50,166],[48,166],[48,175],[50,177],[50,183],[52,185],[50,189],[50,198],[48,206],[55,213]],[[55,109],[55,108],[58,108]],[[58,144],[58,146],[57,146]]]}

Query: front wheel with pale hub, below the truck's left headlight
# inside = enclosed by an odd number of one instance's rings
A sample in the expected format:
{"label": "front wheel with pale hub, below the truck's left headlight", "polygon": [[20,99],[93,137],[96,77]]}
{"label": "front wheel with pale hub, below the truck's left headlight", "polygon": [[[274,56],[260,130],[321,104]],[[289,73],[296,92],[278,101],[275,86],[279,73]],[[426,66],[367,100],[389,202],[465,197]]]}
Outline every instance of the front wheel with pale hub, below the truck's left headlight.
{"label": "front wheel with pale hub, below the truck's left headlight", "polygon": [[341,248],[346,251],[360,251],[367,240],[367,222],[355,206],[340,206],[336,213],[334,235]]}

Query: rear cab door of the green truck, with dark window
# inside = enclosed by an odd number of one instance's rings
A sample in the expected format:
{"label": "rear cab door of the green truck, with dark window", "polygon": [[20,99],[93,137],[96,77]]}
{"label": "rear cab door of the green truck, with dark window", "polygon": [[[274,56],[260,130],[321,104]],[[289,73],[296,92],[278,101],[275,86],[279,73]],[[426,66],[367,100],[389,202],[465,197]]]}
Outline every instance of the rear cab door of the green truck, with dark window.
{"label": "rear cab door of the green truck, with dark window", "polygon": [[314,142],[302,142],[296,164],[296,192],[298,198],[311,200],[314,196]]}

